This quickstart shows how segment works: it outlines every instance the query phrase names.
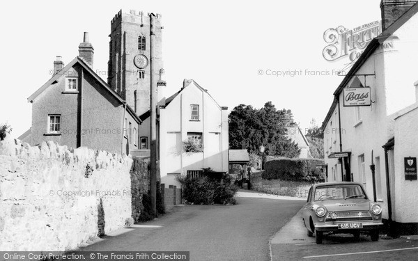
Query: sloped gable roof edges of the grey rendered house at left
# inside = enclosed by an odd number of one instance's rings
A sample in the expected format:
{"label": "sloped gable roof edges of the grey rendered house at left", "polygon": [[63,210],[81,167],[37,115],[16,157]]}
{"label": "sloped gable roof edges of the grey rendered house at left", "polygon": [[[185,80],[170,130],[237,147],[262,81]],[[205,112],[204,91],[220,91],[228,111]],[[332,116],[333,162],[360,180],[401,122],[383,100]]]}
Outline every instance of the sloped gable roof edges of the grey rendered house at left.
{"label": "sloped gable roof edges of the grey rendered house at left", "polygon": [[74,66],[77,63],[79,65],[81,65],[82,68],[84,68],[86,70],[86,72],[88,72],[94,79],[96,79],[100,83],[100,85],[104,88],[104,90],[107,90],[113,97],[116,98],[116,100],[118,100],[119,102],[121,102],[121,104],[125,104],[127,111],[131,114],[131,116],[135,120],[137,120],[139,123],[142,122],[142,120],[137,116],[137,113],[135,113],[134,110],[129,105],[126,104],[125,100],[123,100],[122,97],[118,95],[118,93],[116,93],[112,88],[110,88],[110,86],[107,85],[107,83],[105,81],[103,81],[103,79],[100,78],[98,76],[98,74],[96,74],[90,68],[90,66],[88,66],[83,61],[82,58],[79,58],[79,56],[77,56],[74,59],[72,59],[72,61],[70,63],[68,63],[68,65],[66,65],[62,70],[60,70],[57,74],[55,74],[44,85],[42,85],[40,88],[38,88],[38,90],[36,90],[35,93],[33,93],[31,96],[29,96],[28,97],[28,102],[33,102],[33,100],[35,100],[36,97],[38,97],[38,95],[40,95],[44,90],[46,90],[49,86],[51,86],[51,84],[54,84],[54,82],[56,82],[66,71],[70,70],[70,68],[72,68],[72,66]]}

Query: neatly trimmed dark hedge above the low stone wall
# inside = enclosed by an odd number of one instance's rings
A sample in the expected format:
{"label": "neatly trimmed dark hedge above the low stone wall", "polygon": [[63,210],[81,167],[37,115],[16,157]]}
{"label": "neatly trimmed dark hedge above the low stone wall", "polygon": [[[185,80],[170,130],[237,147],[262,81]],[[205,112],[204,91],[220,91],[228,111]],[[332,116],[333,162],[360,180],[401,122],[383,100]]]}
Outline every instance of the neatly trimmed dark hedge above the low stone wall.
{"label": "neatly trimmed dark hedge above the low stone wall", "polygon": [[274,159],[265,163],[263,179],[288,180],[296,182],[324,182],[325,174],[316,165],[323,165],[322,159]]}

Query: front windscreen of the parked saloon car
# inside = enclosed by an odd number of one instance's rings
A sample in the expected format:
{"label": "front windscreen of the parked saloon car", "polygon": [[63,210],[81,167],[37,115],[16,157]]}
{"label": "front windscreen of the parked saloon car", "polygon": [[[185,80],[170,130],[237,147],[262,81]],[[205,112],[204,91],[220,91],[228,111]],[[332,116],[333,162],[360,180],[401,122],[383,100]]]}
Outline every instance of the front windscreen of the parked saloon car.
{"label": "front windscreen of the parked saloon car", "polygon": [[366,198],[359,185],[328,185],[316,187],[314,200],[333,200],[344,198]]}

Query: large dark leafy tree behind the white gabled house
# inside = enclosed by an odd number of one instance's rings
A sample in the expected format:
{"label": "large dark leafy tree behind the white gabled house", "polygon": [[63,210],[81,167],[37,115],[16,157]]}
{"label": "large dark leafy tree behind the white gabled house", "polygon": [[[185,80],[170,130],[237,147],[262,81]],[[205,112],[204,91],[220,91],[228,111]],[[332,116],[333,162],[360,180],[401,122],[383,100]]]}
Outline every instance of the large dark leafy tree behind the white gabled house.
{"label": "large dark leafy tree behind the white gabled house", "polygon": [[287,138],[287,127],[295,125],[291,110],[277,110],[272,102],[261,109],[240,104],[229,114],[229,146],[258,153],[265,146],[265,155],[297,157],[300,149]]}

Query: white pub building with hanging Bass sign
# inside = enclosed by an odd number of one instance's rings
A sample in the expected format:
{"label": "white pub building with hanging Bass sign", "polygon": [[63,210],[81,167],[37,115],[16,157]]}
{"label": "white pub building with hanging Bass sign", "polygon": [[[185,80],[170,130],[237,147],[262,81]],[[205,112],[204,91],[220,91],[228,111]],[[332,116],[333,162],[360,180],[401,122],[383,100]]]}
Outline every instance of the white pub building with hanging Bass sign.
{"label": "white pub building with hanging Bass sign", "polygon": [[382,0],[382,33],[334,92],[327,181],[362,182],[392,235],[418,234],[418,4]]}

